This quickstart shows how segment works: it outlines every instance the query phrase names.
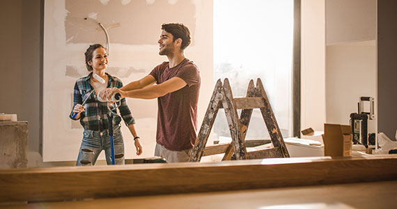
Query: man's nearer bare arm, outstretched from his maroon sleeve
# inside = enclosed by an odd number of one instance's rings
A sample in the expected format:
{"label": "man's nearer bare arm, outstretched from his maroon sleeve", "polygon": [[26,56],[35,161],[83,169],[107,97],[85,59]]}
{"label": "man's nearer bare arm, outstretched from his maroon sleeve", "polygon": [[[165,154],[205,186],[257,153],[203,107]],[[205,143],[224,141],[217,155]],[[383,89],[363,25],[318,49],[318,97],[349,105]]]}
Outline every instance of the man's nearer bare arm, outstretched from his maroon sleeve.
{"label": "man's nearer bare arm, outstretched from his maroon sleeve", "polygon": [[178,91],[186,85],[186,82],[180,77],[173,77],[162,84],[146,86],[132,91],[118,89],[118,92],[123,98],[154,99],[166,95],[167,93]]}

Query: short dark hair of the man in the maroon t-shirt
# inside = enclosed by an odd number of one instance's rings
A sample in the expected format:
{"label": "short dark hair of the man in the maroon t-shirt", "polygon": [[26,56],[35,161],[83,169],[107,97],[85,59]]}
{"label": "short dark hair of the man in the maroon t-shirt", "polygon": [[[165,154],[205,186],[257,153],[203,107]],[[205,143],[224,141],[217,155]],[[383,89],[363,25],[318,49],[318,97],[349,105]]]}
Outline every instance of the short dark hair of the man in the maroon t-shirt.
{"label": "short dark hair of the man in the maroon t-shirt", "polygon": [[182,45],[180,45],[180,49],[185,49],[190,44],[190,31],[187,26],[182,23],[168,23],[162,24],[162,29],[168,33],[171,33],[173,36],[173,41],[178,38],[182,39]]}

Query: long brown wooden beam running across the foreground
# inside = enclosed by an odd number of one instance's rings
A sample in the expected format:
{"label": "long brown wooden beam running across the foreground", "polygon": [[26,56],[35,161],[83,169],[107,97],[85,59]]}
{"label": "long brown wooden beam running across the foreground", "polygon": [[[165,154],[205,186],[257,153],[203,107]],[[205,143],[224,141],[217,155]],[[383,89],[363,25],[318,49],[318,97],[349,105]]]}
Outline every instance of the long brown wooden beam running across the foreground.
{"label": "long brown wooden beam running across the foreground", "polygon": [[397,156],[0,170],[0,202],[213,192],[397,180]]}

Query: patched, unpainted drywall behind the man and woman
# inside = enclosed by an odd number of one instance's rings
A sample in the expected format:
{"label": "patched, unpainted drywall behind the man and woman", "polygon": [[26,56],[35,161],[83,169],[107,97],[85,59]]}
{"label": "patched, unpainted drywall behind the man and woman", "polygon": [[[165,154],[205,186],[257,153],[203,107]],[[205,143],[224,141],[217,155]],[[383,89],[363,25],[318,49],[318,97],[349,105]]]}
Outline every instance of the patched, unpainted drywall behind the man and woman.
{"label": "patched, unpainted drywall behind the man and woman", "polygon": [[[84,20],[89,17],[92,20]],[[45,1],[43,61],[43,161],[77,159],[83,128],[69,118],[76,79],[88,75],[84,52],[88,45],[107,44],[100,22],[109,34],[107,72],[123,84],[148,75],[167,61],[159,56],[161,25],[180,22],[189,27],[192,44],[185,56],[201,70],[198,127],[213,90],[212,1],[208,0],[59,0]],[[143,155],[135,155],[134,140],[122,122],[126,159],[154,155],[157,100],[127,99],[143,144]],[[62,146],[59,146],[61,144]],[[103,153],[100,155],[103,158]]]}

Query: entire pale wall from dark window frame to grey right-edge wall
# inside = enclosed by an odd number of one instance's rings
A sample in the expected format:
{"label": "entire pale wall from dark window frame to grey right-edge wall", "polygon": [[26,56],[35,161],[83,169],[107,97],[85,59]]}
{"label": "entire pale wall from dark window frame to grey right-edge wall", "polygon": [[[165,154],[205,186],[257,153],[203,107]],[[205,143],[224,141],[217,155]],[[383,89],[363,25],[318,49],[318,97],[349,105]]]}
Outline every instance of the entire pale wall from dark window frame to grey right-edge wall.
{"label": "entire pale wall from dark window frame to grey right-edge wall", "polygon": [[302,0],[302,129],[348,124],[359,96],[376,101],[375,3]]}

